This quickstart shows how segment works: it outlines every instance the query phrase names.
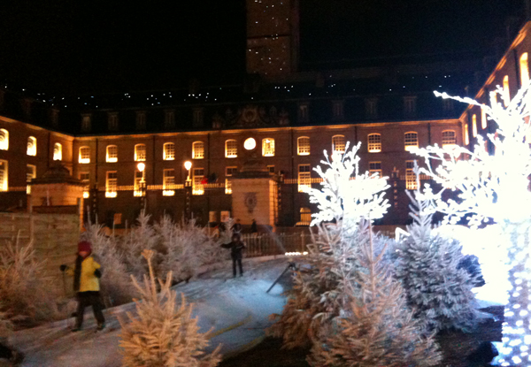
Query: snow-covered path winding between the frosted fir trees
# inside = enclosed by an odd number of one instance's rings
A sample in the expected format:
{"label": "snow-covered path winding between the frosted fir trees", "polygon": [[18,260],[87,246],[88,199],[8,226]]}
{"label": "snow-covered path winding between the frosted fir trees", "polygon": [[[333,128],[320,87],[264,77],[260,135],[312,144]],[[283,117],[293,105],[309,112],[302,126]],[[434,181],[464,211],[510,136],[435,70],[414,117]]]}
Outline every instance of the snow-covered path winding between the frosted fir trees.
{"label": "snow-covered path winding between the frosted fir trees", "polygon": [[[284,257],[260,261],[243,260],[245,274],[232,278],[232,264],[224,269],[208,271],[189,284],[174,289],[185,294],[195,304],[202,332],[213,328],[210,349],[222,344],[224,356],[231,356],[250,348],[262,340],[271,325],[268,317],[280,313],[286,301],[280,285],[271,287],[288,266]],[[289,274],[285,275],[286,277]],[[135,304],[105,310],[107,328],[96,333],[92,310],[87,310],[83,331],[71,333],[73,318],[42,325],[14,334],[12,344],[26,354],[23,366],[39,367],[119,367],[119,321],[126,311],[134,311]]]}

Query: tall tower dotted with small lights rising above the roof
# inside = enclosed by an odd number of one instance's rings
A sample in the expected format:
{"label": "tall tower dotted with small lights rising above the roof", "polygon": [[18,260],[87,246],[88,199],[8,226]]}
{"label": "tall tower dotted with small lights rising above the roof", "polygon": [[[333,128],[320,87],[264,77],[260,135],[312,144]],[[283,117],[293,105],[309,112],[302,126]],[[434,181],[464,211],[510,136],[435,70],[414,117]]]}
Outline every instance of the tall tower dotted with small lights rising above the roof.
{"label": "tall tower dotted with small lights rising above the roof", "polygon": [[247,1],[247,73],[266,79],[296,72],[299,0]]}

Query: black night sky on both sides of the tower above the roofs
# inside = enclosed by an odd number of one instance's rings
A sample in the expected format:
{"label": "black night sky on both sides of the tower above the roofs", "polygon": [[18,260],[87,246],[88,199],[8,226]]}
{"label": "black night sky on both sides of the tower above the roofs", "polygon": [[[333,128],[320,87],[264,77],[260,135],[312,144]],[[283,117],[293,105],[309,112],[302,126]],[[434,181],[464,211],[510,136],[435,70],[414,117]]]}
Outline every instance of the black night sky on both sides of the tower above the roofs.
{"label": "black night sky on both sides of the tower above the roofs", "polygon": [[[483,55],[505,35],[508,17],[522,24],[524,8],[524,0],[300,2],[305,68],[342,59]],[[181,87],[192,76],[208,84],[244,73],[244,0],[120,3],[3,3],[0,80],[86,94]]]}

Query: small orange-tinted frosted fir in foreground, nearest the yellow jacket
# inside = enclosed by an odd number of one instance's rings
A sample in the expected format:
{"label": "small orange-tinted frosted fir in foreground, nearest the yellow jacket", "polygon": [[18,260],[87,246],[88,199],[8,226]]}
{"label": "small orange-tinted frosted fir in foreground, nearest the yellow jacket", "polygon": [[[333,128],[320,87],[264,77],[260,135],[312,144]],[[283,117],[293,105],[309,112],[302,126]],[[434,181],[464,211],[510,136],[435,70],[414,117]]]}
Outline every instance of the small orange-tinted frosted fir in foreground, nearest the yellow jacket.
{"label": "small orange-tinted frosted fir in foreground, nearest the yellow jacket", "polygon": [[[199,333],[197,318],[192,317],[192,305],[187,304],[181,294],[178,305],[177,294],[171,289],[172,274],[165,282],[158,279],[160,293],[153,273],[152,250],[142,251],[148,263],[150,276],[145,276],[140,285],[135,277],[133,284],[142,296],[135,300],[135,316],[127,312],[129,322],[119,319],[122,326],[119,346],[122,348],[125,367],[214,367],[220,361],[219,348],[212,354],[205,354],[209,344],[208,333]],[[209,332],[210,333],[210,332]]]}

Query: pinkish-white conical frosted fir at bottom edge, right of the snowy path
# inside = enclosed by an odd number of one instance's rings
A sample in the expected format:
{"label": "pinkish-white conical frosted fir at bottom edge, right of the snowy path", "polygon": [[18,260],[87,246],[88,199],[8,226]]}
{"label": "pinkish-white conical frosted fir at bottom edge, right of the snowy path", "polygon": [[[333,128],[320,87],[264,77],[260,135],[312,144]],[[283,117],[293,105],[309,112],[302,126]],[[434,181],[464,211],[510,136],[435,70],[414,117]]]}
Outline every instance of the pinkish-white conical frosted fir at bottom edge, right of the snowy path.
{"label": "pinkish-white conical frosted fir at bottom edge, right of the snowy path", "polygon": [[[369,229],[368,233],[370,233]],[[433,335],[408,310],[404,291],[389,266],[374,255],[372,236],[361,244],[357,288],[346,287],[350,302],[313,344],[315,367],[433,366],[440,362]]]}

